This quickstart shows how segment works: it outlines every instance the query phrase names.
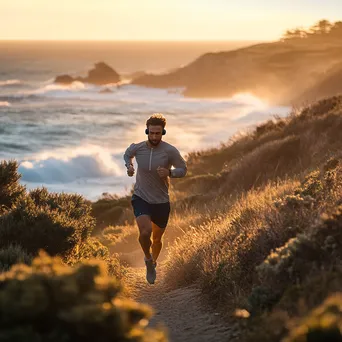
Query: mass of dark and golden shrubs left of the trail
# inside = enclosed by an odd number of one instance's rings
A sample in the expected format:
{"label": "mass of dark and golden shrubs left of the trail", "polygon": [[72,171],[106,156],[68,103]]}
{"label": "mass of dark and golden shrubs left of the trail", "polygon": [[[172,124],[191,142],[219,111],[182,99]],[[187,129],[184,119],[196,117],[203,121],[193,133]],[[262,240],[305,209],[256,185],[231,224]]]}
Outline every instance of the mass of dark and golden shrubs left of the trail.
{"label": "mass of dark and golden shrubs left of the trail", "polygon": [[0,341],[164,342],[152,309],[127,298],[126,268],[93,236],[80,195],[30,192],[0,163]]}

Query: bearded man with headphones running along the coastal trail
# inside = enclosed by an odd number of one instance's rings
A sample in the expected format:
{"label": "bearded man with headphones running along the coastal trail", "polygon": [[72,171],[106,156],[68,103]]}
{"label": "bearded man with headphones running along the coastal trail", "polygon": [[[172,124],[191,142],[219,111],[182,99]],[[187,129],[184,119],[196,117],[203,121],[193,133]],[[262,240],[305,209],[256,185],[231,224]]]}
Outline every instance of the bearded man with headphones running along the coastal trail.
{"label": "bearded man with headphones running along the coastal trail", "polygon": [[150,284],[156,280],[156,261],[170,214],[169,177],[184,177],[187,172],[179,151],[162,141],[165,125],[162,114],[152,115],[146,121],[148,140],[131,144],[124,154],[128,176],[132,177],[135,172],[134,157],[138,165],[132,207],[139,228],[139,243],[145,254],[146,279]]}

